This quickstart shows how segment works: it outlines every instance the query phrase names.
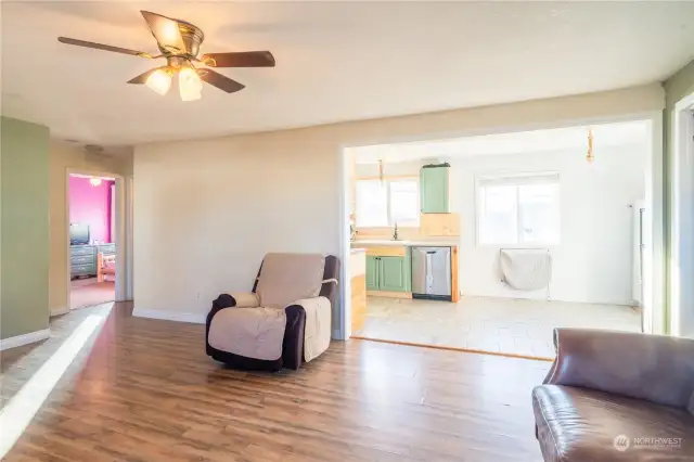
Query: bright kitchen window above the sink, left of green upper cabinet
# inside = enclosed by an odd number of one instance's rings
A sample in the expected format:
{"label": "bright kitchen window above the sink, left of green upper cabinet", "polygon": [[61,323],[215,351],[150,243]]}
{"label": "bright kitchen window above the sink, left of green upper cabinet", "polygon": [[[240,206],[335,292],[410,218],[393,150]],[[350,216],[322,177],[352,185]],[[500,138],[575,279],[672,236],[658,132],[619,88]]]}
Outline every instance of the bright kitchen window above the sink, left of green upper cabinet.
{"label": "bright kitchen window above the sink, left of green upper cabinet", "polygon": [[420,185],[416,178],[357,180],[357,228],[420,226]]}

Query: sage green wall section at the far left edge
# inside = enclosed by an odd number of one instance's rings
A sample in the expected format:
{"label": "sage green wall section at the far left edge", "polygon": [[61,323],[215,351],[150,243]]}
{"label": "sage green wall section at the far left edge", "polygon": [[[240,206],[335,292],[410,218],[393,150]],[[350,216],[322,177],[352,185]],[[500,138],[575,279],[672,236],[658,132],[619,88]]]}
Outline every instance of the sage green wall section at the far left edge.
{"label": "sage green wall section at the far left edge", "polygon": [[49,129],[0,118],[0,338],[48,328]]}

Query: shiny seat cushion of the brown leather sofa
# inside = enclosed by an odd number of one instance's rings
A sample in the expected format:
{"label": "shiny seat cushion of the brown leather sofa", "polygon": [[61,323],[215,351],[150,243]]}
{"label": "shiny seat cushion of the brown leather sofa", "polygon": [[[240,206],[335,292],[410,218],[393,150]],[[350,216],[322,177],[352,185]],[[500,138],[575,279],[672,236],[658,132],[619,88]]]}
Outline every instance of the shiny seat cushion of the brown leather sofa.
{"label": "shiny seat cushion of the brown leather sofa", "polygon": [[[692,461],[694,416],[685,409],[562,385],[532,390],[538,440],[548,462]],[[615,448],[624,435],[630,447]],[[681,446],[642,445],[633,438],[681,438]]]}

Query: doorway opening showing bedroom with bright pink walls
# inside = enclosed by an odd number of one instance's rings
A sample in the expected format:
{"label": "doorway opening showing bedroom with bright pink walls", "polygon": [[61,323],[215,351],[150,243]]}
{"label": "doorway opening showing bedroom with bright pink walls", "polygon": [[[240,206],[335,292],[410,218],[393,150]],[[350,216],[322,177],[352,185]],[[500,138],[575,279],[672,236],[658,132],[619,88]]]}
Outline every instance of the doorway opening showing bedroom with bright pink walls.
{"label": "doorway opening showing bedroom with bright pink walls", "polygon": [[116,179],[68,174],[69,308],[116,298]]}

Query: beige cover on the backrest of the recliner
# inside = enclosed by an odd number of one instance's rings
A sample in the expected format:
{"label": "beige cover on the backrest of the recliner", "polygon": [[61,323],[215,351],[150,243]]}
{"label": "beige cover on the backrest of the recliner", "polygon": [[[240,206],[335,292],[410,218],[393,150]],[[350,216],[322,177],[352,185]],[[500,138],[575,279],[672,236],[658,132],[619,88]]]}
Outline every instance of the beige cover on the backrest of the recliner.
{"label": "beige cover on the backrest of the recliner", "polygon": [[286,308],[321,291],[325,257],[320,254],[267,254],[256,293],[260,306]]}

